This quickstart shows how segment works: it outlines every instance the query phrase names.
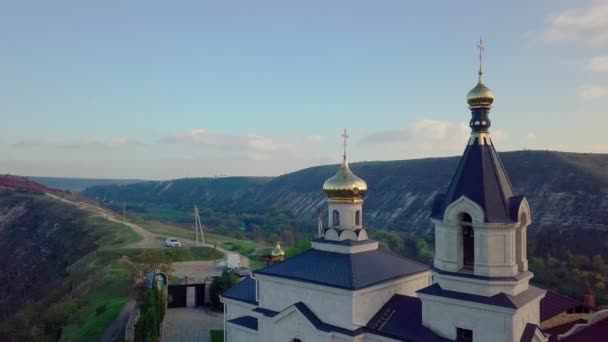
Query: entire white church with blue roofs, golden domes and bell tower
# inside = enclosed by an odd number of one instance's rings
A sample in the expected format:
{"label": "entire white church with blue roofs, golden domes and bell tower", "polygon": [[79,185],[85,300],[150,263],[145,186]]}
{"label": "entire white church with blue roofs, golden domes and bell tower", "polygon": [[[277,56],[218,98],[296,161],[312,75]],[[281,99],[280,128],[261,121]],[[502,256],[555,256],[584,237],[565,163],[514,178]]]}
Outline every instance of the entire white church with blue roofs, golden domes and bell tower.
{"label": "entire white church with blue roofs, golden domes and bell tower", "polygon": [[254,271],[222,296],[226,341],[546,341],[530,285],[524,196],[490,137],[493,92],[467,95],[471,136],[431,209],[432,267],[378,248],[363,222],[366,182],[344,155],[323,184],[328,220],[312,248]]}

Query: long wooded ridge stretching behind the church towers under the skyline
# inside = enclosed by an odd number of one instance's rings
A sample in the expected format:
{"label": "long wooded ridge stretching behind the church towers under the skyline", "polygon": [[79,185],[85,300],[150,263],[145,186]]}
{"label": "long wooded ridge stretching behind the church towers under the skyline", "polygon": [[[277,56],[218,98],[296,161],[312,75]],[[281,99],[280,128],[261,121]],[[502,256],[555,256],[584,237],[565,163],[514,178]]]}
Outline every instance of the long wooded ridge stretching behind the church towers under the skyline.
{"label": "long wooded ridge stretching behind the church towers under the skyline", "polygon": [[[533,213],[532,235],[560,248],[576,233],[594,251],[608,253],[608,155],[553,151],[501,153],[516,192],[525,194]],[[434,196],[447,188],[459,157],[353,163],[369,192],[364,222],[368,227],[429,231]],[[323,205],[323,181],[336,165],[300,170],[276,178],[199,178],[88,188],[91,198],[125,200],[140,212],[189,212],[192,203],[220,212],[278,210],[301,220]],[[162,217],[161,217],[162,218]],[[311,227],[311,229],[313,229]],[[586,232],[585,236],[580,234]],[[573,244],[572,248],[582,248]],[[577,247],[578,246],[578,247]]]}

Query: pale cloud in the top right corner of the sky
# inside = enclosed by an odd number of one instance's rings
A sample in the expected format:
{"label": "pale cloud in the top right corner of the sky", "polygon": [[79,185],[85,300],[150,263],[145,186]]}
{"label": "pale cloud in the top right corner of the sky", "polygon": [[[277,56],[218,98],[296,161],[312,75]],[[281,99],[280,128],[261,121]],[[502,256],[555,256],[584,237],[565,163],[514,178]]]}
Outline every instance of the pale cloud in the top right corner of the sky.
{"label": "pale cloud in the top right corner of the sky", "polygon": [[541,38],[545,43],[602,46],[608,43],[608,0],[591,1],[549,17]]}

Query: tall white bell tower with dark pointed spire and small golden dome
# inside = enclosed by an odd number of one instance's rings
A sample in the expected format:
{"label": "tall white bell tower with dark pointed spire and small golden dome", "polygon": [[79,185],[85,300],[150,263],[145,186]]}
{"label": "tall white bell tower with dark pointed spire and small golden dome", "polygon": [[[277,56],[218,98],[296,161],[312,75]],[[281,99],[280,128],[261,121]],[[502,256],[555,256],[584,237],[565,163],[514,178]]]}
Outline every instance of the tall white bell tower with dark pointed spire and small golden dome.
{"label": "tall white bell tower with dark pointed spire and small golden dome", "polygon": [[530,286],[530,208],[516,195],[490,137],[494,93],[482,79],[468,93],[471,136],[447,192],[431,210],[435,284],[418,292],[423,323],[449,339],[519,341],[539,324],[544,290]]}

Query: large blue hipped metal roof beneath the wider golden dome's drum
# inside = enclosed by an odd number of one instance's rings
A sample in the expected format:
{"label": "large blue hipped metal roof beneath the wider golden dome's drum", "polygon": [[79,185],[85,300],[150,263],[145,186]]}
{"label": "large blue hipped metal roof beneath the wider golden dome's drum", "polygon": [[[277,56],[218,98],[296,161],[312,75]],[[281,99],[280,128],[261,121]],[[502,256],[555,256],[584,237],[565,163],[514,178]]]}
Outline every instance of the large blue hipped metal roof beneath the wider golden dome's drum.
{"label": "large blue hipped metal roof beneath the wider golden dome's drum", "polygon": [[311,249],[254,273],[357,290],[427,270],[426,265],[381,250],[342,254]]}

